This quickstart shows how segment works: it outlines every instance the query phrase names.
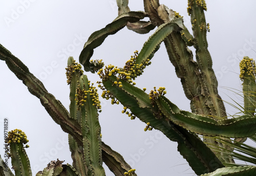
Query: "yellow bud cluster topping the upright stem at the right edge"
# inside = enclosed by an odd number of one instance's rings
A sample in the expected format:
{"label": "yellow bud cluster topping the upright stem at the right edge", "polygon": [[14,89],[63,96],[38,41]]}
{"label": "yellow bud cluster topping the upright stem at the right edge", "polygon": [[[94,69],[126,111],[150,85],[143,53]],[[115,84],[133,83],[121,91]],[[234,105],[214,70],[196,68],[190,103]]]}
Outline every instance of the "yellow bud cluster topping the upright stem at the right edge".
{"label": "yellow bud cluster topping the upright stem at the right edge", "polygon": [[243,60],[239,63],[240,67],[240,79],[243,81],[246,77],[246,74],[249,76],[255,77],[255,61],[249,57],[244,57]]}

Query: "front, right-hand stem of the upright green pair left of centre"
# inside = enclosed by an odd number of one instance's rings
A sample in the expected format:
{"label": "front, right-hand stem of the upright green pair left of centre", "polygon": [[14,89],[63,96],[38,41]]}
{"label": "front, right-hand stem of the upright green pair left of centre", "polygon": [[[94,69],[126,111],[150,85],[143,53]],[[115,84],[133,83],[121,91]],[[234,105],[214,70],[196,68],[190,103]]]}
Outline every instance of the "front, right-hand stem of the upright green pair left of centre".
{"label": "front, right-hand stem of the upright green pair left of centre", "polygon": [[[81,107],[81,127],[83,136],[83,155],[88,167],[88,174],[105,175],[102,167],[100,125],[95,101],[98,101],[97,89],[91,84],[87,76],[81,76],[78,88],[87,93],[87,98]],[[83,97],[84,98],[84,97]]]}

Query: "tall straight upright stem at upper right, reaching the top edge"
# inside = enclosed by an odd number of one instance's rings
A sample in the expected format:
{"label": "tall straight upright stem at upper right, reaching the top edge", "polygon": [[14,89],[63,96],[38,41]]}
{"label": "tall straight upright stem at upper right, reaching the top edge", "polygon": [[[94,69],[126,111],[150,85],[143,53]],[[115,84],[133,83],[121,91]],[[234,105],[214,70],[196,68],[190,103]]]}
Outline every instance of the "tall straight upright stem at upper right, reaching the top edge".
{"label": "tall straight upright stem at upper right, reaching the top edge", "polygon": [[[188,14],[191,16],[192,30],[194,34],[194,48],[196,49],[196,59],[198,67],[201,71],[205,84],[206,103],[210,108],[212,117],[226,117],[225,107],[221,97],[218,95],[218,82],[212,69],[212,59],[208,51],[208,43],[206,32],[208,26],[206,24],[204,11],[206,11],[206,3],[204,0],[189,0]],[[217,119],[218,120],[218,119]]]}

